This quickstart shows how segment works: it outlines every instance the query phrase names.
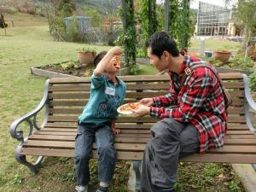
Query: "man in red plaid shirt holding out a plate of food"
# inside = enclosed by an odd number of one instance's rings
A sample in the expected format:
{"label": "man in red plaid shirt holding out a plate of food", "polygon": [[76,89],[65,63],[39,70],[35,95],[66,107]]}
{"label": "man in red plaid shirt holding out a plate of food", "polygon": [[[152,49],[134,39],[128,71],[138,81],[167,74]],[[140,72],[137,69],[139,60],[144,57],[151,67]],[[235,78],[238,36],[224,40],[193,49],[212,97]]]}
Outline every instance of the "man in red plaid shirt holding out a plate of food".
{"label": "man in red plaid shirt holding out a plate of food", "polygon": [[[226,132],[222,88],[206,61],[182,55],[166,32],[156,32],[146,44],[150,62],[171,77],[166,96],[144,98],[137,116],[159,118],[143,155],[142,192],[174,191],[177,160],[188,154],[220,148]],[[191,67],[207,64],[208,67]],[[183,75],[185,78],[183,78]]]}

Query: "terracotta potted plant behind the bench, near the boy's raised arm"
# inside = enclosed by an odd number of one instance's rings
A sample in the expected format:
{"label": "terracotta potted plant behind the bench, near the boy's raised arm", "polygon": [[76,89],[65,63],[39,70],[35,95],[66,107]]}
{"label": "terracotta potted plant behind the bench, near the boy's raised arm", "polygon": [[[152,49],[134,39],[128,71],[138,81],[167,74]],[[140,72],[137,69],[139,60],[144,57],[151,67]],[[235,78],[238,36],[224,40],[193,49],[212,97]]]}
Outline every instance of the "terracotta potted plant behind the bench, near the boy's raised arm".
{"label": "terracotta potted plant behind the bench, near the boy's raised arm", "polygon": [[92,64],[96,57],[96,49],[84,47],[78,49],[78,59],[81,64]]}

